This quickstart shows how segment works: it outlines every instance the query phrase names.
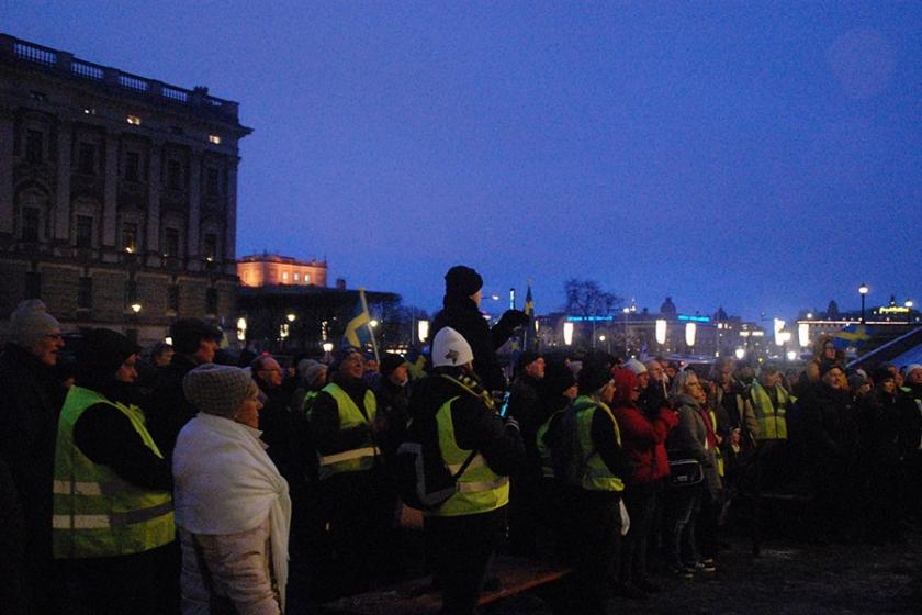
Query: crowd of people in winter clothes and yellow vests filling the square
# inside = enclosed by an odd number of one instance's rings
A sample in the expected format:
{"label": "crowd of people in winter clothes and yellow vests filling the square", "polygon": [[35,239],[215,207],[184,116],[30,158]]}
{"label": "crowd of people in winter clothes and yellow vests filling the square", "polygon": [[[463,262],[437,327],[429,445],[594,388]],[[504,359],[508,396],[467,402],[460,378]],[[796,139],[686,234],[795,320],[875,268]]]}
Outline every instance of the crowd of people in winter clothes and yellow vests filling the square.
{"label": "crowd of people in winter clothes and yellow vests filling the square", "polygon": [[[496,350],[528,316],[491,328],[480,275],[445,280],[413,379],[352,347],[224,365],[198,318],[147,353],[87,332],[63,369],[60,324],[21,303],[0,354],[4,612],[308,612],[418,568],[443,613],[473,613],[503,549],[571,566],[574,607],[608,613],[715,573],[760,491],[803,494],[817,543],[900,540],[922,518],[922,365],[850,370],[830,338],[799,373],[526,350],[509,382]],[[409,439],[451,479],[415,568]]]}

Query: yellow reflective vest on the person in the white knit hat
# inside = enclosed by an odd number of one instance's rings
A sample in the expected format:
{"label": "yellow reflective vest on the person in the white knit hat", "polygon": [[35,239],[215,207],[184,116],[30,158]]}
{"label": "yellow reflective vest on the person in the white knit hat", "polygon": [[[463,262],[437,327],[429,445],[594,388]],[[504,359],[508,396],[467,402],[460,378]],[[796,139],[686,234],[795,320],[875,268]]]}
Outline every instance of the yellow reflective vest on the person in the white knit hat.
{"label": "yellow reflective vest on the person in the white knit hat", "polygon": [[[436,413],[438,425],[439,449],[442,460],[449,471],[457,472],[471,455],[458,446],[454,439],[454,421],[451,417],[451,405],[458,398],[445,402]],[[487,412],[484,407],[483,412]],[[453,470],[452,470],[453,468]],[[509,502],[509,477],[503,477],[490,469],[482,455],[474,456],[471,465],[464,470],[456,483],[457,492],[435,511],[427,512],[434,516],[474,515],[495,511]]]}

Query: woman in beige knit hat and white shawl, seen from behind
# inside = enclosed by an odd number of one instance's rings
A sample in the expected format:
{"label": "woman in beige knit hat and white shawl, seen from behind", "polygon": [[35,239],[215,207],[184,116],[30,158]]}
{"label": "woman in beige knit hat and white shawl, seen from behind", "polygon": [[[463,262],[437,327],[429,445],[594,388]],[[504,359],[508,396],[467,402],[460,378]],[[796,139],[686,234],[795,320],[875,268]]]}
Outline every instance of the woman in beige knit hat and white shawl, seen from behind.
{"label": "woman in beige knit hat and white shawl, seen from behind", "polygon": [[259,439],[259,390],[236,367],[182,381],[200,411],[173,452],[183,615],[284,612],[291,500]]}

